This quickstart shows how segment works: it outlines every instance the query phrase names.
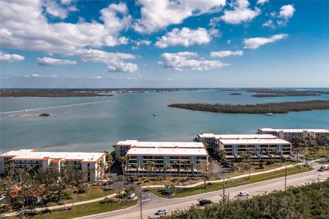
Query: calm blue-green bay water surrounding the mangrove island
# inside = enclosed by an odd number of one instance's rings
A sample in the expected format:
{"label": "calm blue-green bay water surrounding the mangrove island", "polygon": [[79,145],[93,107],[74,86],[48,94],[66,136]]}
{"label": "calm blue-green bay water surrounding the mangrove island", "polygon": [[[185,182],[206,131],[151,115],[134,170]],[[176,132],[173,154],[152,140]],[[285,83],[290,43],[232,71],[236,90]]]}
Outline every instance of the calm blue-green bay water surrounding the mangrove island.
{"label": "calm blue-green bay water surrounding the mangrove island", "polygon": [[[262,127],[329,128],[329,111],[265,116],[167,107],[167,104],[179,102],[256,104],[329,100],[329,95],[256,98],[245,91],[238,91],[242,95],[229,95],[232,92],[198,90],[127,93],[113,97],[1,97],[0,152],[20,148],[103,151],[112,150],[114,143],[125,139],[191,141],[199,132],[237,134],[254,133]],[[33,108],[43,109],[30,110]],[[8,116],[23,114],[23,110],[29,110],[28,114],[50,113],[54,116]],[[152,116],[154,110],[158,114],[156,117]]]}

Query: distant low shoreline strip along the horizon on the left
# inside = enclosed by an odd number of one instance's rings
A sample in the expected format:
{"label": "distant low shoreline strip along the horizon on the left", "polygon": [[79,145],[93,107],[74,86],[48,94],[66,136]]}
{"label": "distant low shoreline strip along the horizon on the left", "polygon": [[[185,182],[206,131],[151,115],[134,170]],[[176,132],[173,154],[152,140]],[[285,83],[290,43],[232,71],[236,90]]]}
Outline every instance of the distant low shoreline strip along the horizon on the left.
{"label": "distant low shoreline strip along the horizon on the left", "polygon": [[110,97],[112,93],[162,93],[196,89],[0,89],[0,97]]}

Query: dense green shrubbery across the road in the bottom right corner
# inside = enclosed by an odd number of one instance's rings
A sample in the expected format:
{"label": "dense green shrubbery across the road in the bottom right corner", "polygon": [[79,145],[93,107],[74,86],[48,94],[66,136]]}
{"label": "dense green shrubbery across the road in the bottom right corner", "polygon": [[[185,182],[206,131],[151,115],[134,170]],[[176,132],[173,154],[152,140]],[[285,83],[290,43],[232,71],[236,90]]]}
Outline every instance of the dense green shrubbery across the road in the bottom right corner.
{"label": "dense green shrubbery across the road in the bottom right corner", "polygon": [[234,199],[204,208],[193,206],[166,219],[185,218],[328,218],[329,181],[288,187],[248,199]]}

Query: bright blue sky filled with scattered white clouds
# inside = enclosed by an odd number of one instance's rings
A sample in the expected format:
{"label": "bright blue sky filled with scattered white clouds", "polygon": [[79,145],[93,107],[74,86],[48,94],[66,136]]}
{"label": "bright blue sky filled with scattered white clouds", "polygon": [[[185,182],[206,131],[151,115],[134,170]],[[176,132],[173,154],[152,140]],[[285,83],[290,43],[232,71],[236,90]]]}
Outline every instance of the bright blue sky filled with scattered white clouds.
{"label": "bright blue sky filled with scattered white clouds", "polygon": [[1,88],[329,87],[329,1],[0,1]]}

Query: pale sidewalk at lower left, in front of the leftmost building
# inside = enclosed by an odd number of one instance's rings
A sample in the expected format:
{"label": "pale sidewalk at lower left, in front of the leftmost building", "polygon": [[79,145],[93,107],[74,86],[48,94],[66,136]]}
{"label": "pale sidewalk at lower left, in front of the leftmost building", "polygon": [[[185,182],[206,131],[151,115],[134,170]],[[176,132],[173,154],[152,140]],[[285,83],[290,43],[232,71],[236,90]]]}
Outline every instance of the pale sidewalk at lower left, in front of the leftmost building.
{"label": "pale sidewalk at lower left, in front of the leftmost building", "polygon": [[[104,198],[112,198],[114,196],[116,196],[117,194],[110,194],[108,196],[104,196],[104,197],[101,197],[101,198],[95,198],[95,199],[92,199],[92,200],[84,200],[84,201],[81,201],[81,202],[78,202],[78,203],[75,203],[75,205],[84,205],[84,204],[88,204],[88,203],[96,203],[96,202],[99,202],[100,200],[103,200]],[[68,203],[66,204],[66,209],[69,209],[70,207],[72,207],[73,203]],[[53,210],[53,209],[64,209],[64,205],[56,205],[56,206],[49,206],[49,207],[37,207],[35,209],[26,209],[24,212],[25,213],[31,213],[31,212],[36,212],[36,211],[45,211],[45,210]],[[6,214],[0,214],[0,218],[3,218],[3,217],[10,217],[10,216],[16,216],[16,215],[19,215],[21,214],[21,211],[14,211],[12,213],[6,213]]]}

